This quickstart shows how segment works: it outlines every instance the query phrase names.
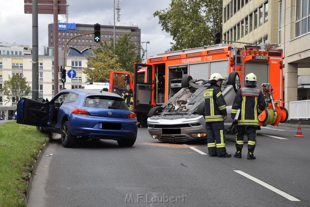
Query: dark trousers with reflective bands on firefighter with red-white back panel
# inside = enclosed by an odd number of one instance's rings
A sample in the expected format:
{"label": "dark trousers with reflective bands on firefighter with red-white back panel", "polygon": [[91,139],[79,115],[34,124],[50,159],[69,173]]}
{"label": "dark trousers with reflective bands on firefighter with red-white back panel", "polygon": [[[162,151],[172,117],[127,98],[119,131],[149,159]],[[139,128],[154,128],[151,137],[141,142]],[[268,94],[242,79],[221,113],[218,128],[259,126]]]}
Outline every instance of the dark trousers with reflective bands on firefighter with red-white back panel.
{"label": "dark trousers with reflective bands on firefighter with red-white back panel", "polygon": [[254,152],[256,142],[256,129],[257,126],[239,126],[237,125],[238,132],[236,134],[236,149],[241,151],[243,147],[244,133],[248,136],[248,150]]}

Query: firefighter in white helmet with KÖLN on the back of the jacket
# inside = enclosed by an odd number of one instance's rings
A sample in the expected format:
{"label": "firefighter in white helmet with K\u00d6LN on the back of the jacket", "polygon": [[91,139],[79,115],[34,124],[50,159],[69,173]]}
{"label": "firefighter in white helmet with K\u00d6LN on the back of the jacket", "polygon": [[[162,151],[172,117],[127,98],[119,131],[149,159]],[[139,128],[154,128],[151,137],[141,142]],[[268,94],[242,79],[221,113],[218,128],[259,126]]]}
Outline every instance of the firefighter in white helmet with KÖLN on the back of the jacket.
{"label": "firefighter in white helmet with K\u00d6LN on the back of the jacket", "polygon": [[226,102],[224,100],[221,83],[223,77],[219,73],[210,76],[210,86],[206,88],[203,96],[205,99],[205,120],[207,130],[208,152],[210,157],[231,157],[226,152],[224,120],[227,118]]}

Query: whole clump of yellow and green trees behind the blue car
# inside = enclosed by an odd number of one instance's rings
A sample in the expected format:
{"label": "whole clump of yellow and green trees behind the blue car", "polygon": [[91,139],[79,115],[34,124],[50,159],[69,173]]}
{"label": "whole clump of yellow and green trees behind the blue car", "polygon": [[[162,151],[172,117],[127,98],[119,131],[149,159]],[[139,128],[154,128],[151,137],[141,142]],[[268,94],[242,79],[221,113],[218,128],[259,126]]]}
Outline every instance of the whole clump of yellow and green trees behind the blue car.
{"label": "whole clump of yellow and green trees behind the blue car", "polygon": [[[138,54],[141,47],[136,48],[136,45],[131,42],[134,37],[133,34],[124,34],[117,40],[115,44],[113,38],[110,38],[111,44],[108,45],[106,41],[100,42],[100,47],[92,50],[93,56],[86,57],[88,60],[88,67],[94,68],[94,82],[106,82],[109,80],[111,70],[126,71],[133,74],[133,68],[135,62],[144,61],[145,54],[142,49],[142,55]],[[92,73],[84,70],[86,74],[86,82],[92,82]]]}

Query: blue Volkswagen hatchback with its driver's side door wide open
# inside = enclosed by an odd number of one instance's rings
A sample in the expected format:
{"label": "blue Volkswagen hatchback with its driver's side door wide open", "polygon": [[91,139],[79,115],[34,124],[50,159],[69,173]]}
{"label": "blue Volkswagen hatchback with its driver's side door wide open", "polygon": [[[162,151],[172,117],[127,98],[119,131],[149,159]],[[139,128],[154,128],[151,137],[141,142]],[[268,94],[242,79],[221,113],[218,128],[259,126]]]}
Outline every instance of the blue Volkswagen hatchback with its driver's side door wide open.
{"label": "blue Volkswagen hatchback with its driver's side door wide open", "polygon": [[23,97],[17,104],[17,123],[61,134],[64,147],[74,146],[78,139],[110,139],[132,146],[138,131],[136,115],[124,99],[98,89],[65,89],[47,102]]}

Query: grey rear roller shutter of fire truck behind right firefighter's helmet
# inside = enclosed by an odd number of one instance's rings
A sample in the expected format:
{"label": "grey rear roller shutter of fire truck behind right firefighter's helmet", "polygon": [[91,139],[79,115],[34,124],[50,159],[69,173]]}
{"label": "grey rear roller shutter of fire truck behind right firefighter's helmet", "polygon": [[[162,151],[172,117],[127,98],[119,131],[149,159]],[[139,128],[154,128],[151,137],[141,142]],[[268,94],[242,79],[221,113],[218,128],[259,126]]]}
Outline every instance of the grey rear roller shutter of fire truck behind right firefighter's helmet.
{"label": "grey rear roller shutter of fire truck behind right firefighter's helmet", "polygon": [[[249,73],[254,73],[256,75],[257,80],[258,80],[256,84],[257,88],[262,88],[262,83],[268,83],[268,75],[269,75],[268,64],[246,63],[244,77]],[[244,77],[242,77],[243,80],[244,80]]]}

